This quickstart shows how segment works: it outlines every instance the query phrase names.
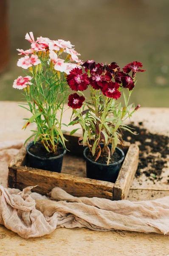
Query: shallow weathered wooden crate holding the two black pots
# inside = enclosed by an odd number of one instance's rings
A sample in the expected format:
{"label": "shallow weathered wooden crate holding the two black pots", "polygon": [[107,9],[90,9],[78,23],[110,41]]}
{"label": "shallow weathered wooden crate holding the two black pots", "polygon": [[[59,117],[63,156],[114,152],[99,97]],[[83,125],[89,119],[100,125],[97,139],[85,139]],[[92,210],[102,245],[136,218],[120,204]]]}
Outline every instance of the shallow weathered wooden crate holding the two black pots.
{"label": "shallow weathered wooden crate holding the two black pots", "polygon": [[[8,186],[23,189],[26,186],[37,186],[32,189],[46,195],[55,186],[77,197],[99,197],[111,200],[126,199],[130,185],[138,167],[139,148],[135,144],[125,143],[125,159],[115,183],[86,178],[86,165],[83,158],[83,146],[79,146],[79,135],[70,136],[67,148],[71,152],[64,156],[62,173],[44,171],[28,167],[25,146],[14,157],[9,165]],[[120,145],[118,145],[121,147]]]}

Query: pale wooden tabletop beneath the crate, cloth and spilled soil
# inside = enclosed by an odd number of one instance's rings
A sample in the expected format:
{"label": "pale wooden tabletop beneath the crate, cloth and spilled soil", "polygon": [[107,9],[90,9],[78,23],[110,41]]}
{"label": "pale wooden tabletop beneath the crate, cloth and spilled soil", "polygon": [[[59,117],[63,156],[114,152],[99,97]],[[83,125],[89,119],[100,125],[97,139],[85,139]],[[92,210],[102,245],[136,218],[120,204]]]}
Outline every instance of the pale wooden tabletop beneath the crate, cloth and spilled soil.
{"label": "pale wooden tabletop beneath the crate, cloth and spilled soil", "polygon": [[[70,111],[68,111],[68,116]],[[34,129],[31,124],[26,131],[21,130],[29,113],[17,106],[16,102],[0,102],[0,142],[26,139]],[[67,116],[67,119],[68,119]],[[169,108],[141,108],[132,117],[137,124],[152,132],[169,134]],[[169,189],[130,189],[131,201],[150,200],[169,195]],[[136,232],[116,233],[96,232],[85,228],[68,230],[56,229],[50,235],[23,239],[16,233],[0,225],[0,256],[169,256],[169,236]]]}

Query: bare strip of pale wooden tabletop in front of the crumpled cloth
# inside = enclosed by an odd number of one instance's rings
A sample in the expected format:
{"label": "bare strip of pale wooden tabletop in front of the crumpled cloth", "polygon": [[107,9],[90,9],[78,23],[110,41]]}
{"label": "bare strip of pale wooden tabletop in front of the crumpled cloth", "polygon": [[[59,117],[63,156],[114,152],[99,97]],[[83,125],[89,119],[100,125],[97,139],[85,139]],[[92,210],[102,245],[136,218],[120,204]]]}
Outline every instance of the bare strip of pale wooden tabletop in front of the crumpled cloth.
{"label": "bare strip of pale wooden tabletop in front of the crumpled cloth", "polygon": [[59,228],[53,233],[23,239],[0,226],[0,256],[167,256],[169,237],[155,233],[99,232]]}

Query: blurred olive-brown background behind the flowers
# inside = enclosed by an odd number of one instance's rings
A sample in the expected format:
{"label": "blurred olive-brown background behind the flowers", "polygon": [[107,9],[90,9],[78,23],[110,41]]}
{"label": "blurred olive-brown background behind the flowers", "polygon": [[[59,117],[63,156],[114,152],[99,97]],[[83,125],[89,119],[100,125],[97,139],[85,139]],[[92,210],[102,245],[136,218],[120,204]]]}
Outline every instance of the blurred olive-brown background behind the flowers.
{"label": "blurred olive-brown background behind the flowers", "polygon": [[[29,49],[26,32],[35,38],[69,40],[85,61],[141,61],[132,102],[169,107],[169,0],[9,0],[10,67],[0,75],[0,100],[18,101],[14,79],[17,48]],[[1,35],[2,37],[3,35]]]}

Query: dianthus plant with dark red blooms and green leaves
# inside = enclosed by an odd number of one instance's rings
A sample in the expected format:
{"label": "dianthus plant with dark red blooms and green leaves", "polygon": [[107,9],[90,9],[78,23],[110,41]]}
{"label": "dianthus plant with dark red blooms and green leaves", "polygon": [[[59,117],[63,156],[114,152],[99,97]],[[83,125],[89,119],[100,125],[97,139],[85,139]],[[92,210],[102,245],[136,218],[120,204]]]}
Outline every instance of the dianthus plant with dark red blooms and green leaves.
{"label": "dianthus plant with dark red blooms and green leaves", "polygon": [[[86,61],[82,68],[76,67],[67,76],[70,88],[81,94],[73,93],[68,98],[68,106],[73,108],[70,125],[81,125],[83,137],[79,138],[79,144],[88,146],[90,156],[94,156],[95,161],[106,155],[108,165],[118,139],[122,142],[121,129],[131,131],[123,122],[140,107],[138,105],[133,108],[134,104],[129,105],[129,99],[135,87],[136,72],[145,71],[141,67],[141,62],[133,61],[121,71],[115,62],[104,65]],[[83,68],[85,72],[82,71]],[[129,75],[130,72],[132,76]],[[85,100],[82,92],[87,88],[90,97]],[[121,96],[124,97],[124,106]],[[103,148],[100,143],[104,143]]]}

